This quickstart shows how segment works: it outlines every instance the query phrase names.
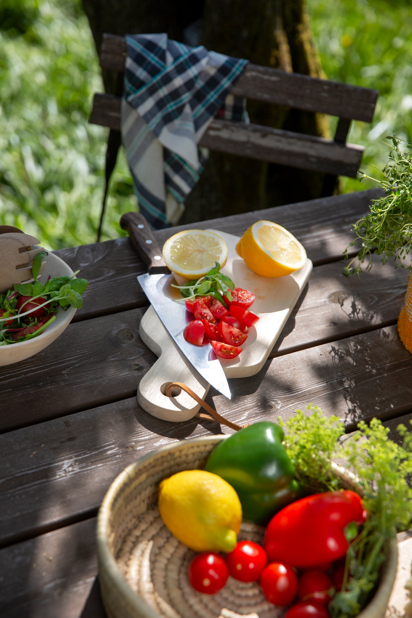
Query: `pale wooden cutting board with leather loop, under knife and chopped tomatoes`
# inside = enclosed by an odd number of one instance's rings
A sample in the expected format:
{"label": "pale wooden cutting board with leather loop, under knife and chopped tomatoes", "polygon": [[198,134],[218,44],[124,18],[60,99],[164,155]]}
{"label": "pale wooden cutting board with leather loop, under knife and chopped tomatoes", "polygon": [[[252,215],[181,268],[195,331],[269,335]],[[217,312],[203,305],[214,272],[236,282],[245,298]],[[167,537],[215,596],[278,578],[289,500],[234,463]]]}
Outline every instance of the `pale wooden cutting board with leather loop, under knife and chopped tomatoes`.
{"label": "pale wooden cutting board with leather loop, under knife and chopped tomatoes", "polygon": [[[246,266],[235,250],[238,236],[211,230],[221,235],[228,247],[227,262],[222,273],[227,274],[235,286],[250,290],[256,296],[251,311],[260,320],[249,329],[248,339],[240,355],[231,360],[221,360],[227,378],[248,378],[261,370],[279,337],[282,328],[300,297],[313,268],[311,260],[299,271],[285,277],[261,277]],[[174,277],[170,275],[170,282]],[[170,289],[170,297],[174,295]],[[193,316],[188,313],[188,321]],[[166,388],[172,382],[183,382],[202,399],[209,384],[193,370],[179,347],[169,336],[153,307],[149,307],[140,322],[140,337],[159,357],[140,381],[137,399],[142,408],[155,417],[168,421],[183,421],[195,416],[200,405],[185,392],[166,397]]]}

